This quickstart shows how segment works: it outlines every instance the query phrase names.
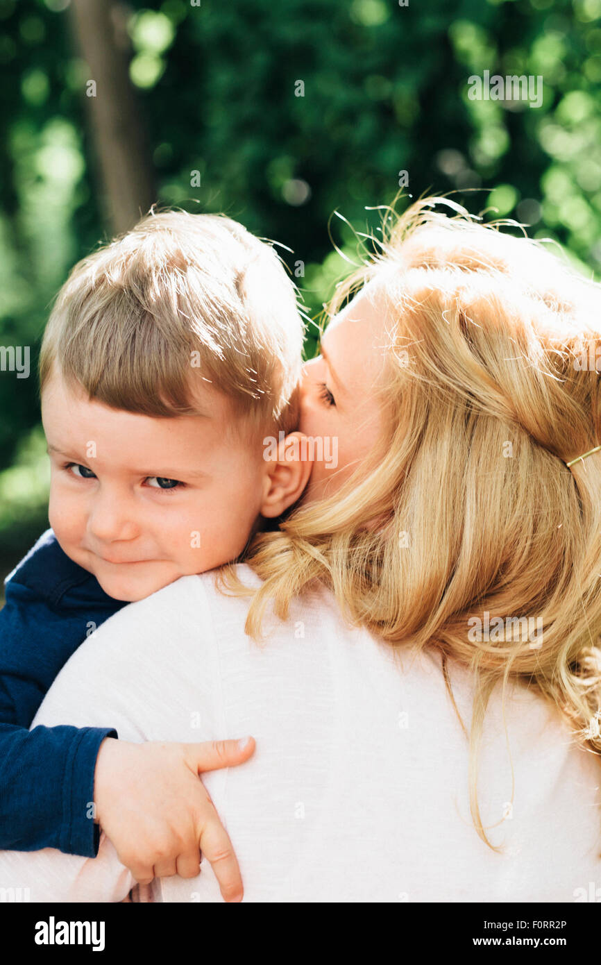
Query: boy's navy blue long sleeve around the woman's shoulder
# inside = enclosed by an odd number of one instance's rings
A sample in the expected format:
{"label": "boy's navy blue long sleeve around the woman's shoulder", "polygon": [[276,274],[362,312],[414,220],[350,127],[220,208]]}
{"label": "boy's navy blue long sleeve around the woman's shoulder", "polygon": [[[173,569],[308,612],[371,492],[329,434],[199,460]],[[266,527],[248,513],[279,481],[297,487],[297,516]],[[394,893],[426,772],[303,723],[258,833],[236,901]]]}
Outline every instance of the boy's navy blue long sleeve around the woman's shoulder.
{"label": "boy's navy blue long sleeve around the woman's shoulder", "polygon": [[9,576],[0,611],[0,849],[96,857],[96,757],[117,731],[28,729],[70,655],[123,606],[68,559],[51,530]]}

